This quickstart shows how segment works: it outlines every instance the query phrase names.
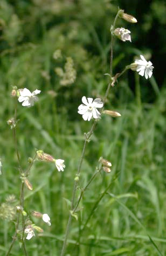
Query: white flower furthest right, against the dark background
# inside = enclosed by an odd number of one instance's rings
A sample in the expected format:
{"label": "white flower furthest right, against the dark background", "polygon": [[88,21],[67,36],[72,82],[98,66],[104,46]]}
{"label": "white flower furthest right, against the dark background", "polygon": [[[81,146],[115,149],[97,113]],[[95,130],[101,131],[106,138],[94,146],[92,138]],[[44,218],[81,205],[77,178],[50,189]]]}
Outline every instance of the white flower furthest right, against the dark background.
{"label": "white flower furthest right, against the dark background", "polygon": [[143,55],[140,55],[141,60],[135,60],[135,63],[138,64],[136,71],[139,72],[140,76],[145,76],[146,79],[151,77],[152,75],[152,70],[153,70],[153,64],[151,61],[146,61],[146,59],[143,57]]}

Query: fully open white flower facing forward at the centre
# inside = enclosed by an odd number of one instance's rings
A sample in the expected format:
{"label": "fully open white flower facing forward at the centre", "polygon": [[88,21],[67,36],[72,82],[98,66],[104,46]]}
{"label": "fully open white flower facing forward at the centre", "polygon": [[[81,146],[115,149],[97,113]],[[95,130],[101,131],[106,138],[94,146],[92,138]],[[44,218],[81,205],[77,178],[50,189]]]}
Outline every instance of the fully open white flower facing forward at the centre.
{"label": "fully open white flower facing forward at the centre", "polygon": [[82,115],[82,118],[86,121],[90,121],[92,116],[94,119],[100,116],[100,112],[96,108],[102,108],[103,103],[101,99],[97,98],[93,101],[92,98],[87,98],[85,96],[82,97],[82,102],[78,107],[78,113]]}

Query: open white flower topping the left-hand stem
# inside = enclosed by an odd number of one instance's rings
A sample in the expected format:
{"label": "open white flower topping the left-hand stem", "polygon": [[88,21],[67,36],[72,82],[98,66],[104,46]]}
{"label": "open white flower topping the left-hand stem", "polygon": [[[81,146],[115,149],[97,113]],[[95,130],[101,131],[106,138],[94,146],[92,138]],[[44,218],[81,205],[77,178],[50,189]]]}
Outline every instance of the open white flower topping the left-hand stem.
{"label": "open white flower topping the left-hand stem", "polygon": [[33,93],[30,90],[24,88],[23,90],[19,90],[20,96],[18,98],[19,102],[23,102],[22,106],[24,107],[31,107],[34,105],[34,101],[38,101],[38,97],[36,96],[39,94],[40,90],[34,90]]}

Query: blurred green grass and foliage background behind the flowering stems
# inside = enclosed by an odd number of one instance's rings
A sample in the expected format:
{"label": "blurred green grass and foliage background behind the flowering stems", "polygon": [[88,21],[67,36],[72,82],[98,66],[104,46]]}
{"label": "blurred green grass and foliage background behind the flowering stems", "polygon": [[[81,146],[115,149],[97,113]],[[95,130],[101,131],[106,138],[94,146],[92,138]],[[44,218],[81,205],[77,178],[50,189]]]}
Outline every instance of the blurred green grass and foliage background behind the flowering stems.
{"label": "blurred green grass and foliage background behind the flowering stems", "polygon": [[[26,241],[29,255],[60,255],[83,134],[92,125],[77,108],[82,96],[103,99],[105,94],[108,77],[103,74],[109,73],[110,25],[117,6],[138,23],[118,20],[117,27],[132,32],[132,43],[116,40],[113,73],[143,54],[153,63],[154,76],[146,80],[128,71],[110,90],[106,109],[119,111],[121,117],[102,116],[98,122],[86,150],[81,185],[95,172],[100,156],[112,162],[112,173],[98,175],[84,194],[79,220],[72,221],[66,255],[165,255],[165,1],[1,0],[0,216],[6,197],[15,195],[18,200],[20,187],[12,130],[6,123],[14,111],[12,86],[41,90],[34,107],[18,103],[23,168],[35,148],[65,159],[66,164],[63,173],[52,163],[37,162],[31,170],[33,191],[25,191],[25,211],[48,213],[52,225],[33,219],[44,233]],[[109,193],[80,234],[110,181]],[[8,220],[8,211],[1,217],[0,255],[5,255],[15,219]],[[75,246],[78,239],[80,244]],[[18,242],[11,255],[23,255]]]}

